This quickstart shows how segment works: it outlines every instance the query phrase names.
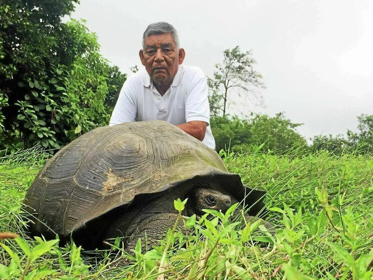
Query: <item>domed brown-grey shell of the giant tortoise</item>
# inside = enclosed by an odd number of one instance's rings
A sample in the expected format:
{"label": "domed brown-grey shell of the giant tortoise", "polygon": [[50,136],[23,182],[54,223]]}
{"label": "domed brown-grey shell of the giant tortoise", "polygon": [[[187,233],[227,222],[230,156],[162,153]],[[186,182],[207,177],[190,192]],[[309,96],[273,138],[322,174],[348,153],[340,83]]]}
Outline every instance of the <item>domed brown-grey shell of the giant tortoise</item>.
{"label": "domed brown-grey shell of the giant tortoise", "polygon": [[[218,181],[238,200],[263,208],[264,191],[245,187],[201,141],[164,121],[98,127],[73,140],[41,169],[25,197],[31,232],[68,237],[138,195],[154,196],[192,178]],[[106,216],[107,217],[107,216]]]}

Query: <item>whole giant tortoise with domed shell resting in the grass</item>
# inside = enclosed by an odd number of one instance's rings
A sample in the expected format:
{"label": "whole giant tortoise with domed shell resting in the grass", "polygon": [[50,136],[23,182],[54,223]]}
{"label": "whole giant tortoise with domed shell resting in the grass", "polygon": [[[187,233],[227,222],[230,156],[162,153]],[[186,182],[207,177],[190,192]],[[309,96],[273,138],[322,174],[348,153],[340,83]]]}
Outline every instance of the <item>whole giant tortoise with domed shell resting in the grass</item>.
{"label": "whole giant tortoise with domed shell resting in the grass", "polygon": [[199,140],[167,122],[145,121],[98,127],[63,147],[35,178],[24,209],[32,214],[31,234],[72,236],[86,248],[123,236],[129,251],[139,236],[156,242],[175,224],[174,199],[188,198],[185,216],[224,212],[236,202],[254,216],[264,195]]}

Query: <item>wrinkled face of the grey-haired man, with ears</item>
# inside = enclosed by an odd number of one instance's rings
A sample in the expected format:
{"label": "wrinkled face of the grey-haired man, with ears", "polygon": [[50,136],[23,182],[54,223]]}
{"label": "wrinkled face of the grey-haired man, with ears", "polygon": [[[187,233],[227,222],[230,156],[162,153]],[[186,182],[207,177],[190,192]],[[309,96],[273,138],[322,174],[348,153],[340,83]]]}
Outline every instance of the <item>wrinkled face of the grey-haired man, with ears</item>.
{"label": "wrinkled face of the grey-haired man, with ears", "polygon": [[184,49],[178,49],[170,33],[151,35],[145,38],[140,60],[155,83],[171,84],[183,63]]}

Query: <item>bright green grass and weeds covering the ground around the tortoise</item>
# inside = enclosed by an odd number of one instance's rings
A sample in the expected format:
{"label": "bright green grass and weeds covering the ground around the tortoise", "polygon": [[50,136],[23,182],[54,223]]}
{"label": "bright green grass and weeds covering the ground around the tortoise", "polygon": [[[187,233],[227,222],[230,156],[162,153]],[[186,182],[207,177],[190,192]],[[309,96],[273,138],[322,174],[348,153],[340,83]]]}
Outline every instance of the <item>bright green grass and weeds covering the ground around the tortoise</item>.
{"label": "bright green grass and weeds covering the ground around the tortoise", "polygon": [[246,185],[268,190],[275,236],[212,212],[210,220],[184,218],[187,236],[170,230],[145,255],[138,244],[135,263],[122,267],[113,265],[120,250],[83,253],[23,233],[21,203],[46,159],[38,148],[0,158],[0,231],[19,234],[2,240],[0,279],[372,279],[373,158],[227,155]]}

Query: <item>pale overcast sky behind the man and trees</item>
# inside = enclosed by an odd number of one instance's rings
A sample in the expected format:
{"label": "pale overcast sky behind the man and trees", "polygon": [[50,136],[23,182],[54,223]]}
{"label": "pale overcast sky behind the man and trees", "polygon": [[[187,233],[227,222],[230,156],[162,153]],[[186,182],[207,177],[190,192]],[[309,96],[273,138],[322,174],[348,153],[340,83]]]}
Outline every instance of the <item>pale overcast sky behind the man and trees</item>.
{"label": "pale overcast sky behind the man and trees", "polygon": [[[303,2],[303,3],[301,3]],[[230,112],[285,111],[298,131],[345,134],[356,116],[373,114],[373,1],[81,0],[73,18],[87,20],[101,53],[122,72],[138,57],[148,24],[179,32],[184,64],[212,76],[223,50],[252,50],[264,77],[265,108],[235,97]]]}

